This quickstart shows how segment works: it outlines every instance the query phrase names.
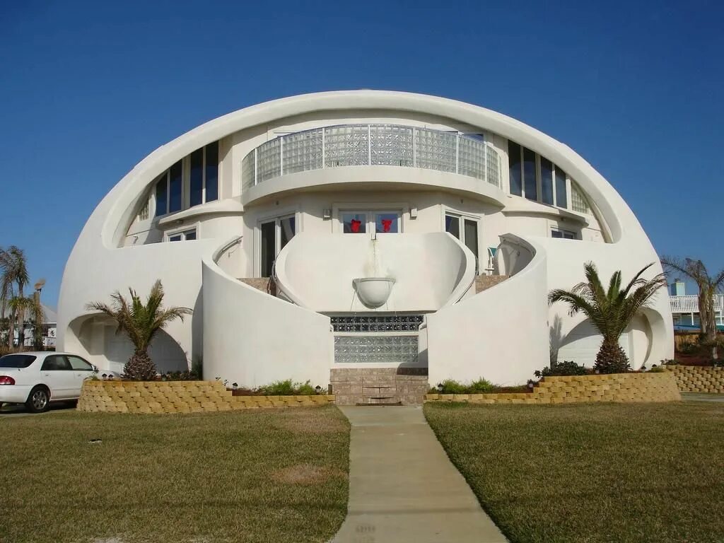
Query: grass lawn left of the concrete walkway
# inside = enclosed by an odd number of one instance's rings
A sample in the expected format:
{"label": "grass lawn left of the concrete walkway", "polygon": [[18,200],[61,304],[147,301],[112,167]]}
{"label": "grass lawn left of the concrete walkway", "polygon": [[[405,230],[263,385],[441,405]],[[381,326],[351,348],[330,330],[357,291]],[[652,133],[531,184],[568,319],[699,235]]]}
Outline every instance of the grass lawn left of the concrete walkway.
{"label": "grass lawn left of the concrete walkway", "polygon": [[325,542],[347,513],[349,424],[333,406],[65,411],[0,432],[3,543]]}

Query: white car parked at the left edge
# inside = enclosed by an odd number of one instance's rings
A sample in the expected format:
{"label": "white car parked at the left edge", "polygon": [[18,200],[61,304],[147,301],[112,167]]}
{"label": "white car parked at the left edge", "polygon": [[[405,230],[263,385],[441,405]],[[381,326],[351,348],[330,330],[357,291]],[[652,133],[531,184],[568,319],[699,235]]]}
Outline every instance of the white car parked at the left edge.
{"label": "white car parked at the left edge", "polygon": [[77,400],[98,368],[70,353],[14,353],[0,357],[0,405],[24,403],[33,413],[51,402]]}

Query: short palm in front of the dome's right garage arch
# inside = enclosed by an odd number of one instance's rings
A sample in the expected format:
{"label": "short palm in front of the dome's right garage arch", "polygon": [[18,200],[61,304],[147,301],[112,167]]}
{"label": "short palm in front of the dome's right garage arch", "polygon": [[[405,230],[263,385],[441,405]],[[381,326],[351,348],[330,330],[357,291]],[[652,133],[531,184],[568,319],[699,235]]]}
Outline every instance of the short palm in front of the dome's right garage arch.
{"label": "short palm in front of the dome's right garage arch", "polygon": [[550,291],[549,303],[568,303],[572,316],[579,311],[584,313],[603,336],[594,364],[599,373],[616,374],[631,369],[628,356],[618,345],[618,338],[636,313],[649,306],[657,290],[666,286],[664,274],[657,274],[652,279],[641,277],[653,265],[641,269],[623,290],[621,272],[616,271],[608,283],[608,290],[605,290],[596,266],[588,262],[584,266],[585,282],[578,283],[572,290]]}

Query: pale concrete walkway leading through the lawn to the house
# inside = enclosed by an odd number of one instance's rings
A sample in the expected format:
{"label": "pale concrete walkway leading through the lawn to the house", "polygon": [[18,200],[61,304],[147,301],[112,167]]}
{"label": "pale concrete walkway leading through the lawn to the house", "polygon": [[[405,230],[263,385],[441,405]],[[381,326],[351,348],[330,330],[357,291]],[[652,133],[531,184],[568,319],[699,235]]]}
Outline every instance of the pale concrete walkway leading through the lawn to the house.
{"label": "pale concrete walkway leading through the lawn to the house", "polygon": [[340,407],[352,424],[350,501],[333,543],[501,543],[419,407]]}

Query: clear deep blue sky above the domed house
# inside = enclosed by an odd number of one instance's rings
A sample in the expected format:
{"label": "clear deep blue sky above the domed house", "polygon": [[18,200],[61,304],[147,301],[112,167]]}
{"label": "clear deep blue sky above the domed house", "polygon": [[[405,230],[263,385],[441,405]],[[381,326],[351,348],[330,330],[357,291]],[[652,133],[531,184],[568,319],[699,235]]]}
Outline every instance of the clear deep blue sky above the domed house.
{"label": "clear deep blue sky above the domed house", "polygon": [[251,104],[350,88],[520,119],[593,164],[660,254],[724,266],[720,2],[2,4],[0,246],[25,248],[51,306],[85,219],[153,149]]}

